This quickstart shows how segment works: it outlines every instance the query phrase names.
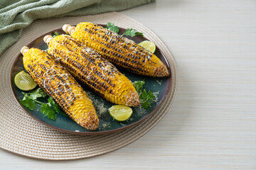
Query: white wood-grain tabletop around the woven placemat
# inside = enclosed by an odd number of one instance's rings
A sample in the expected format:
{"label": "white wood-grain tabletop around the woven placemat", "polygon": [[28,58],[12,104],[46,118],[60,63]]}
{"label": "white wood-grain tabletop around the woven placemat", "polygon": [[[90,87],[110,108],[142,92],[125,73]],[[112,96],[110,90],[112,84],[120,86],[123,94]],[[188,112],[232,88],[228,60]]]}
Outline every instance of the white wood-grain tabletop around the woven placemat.
{"label": "white wood-grain tabletop around the woven placemat", "polygon": [[256,169],[256,1],[157,0],[121,13],[159,35],[176,59],[178,89],[164,119],[89,159],[0,149],[0,169]]}

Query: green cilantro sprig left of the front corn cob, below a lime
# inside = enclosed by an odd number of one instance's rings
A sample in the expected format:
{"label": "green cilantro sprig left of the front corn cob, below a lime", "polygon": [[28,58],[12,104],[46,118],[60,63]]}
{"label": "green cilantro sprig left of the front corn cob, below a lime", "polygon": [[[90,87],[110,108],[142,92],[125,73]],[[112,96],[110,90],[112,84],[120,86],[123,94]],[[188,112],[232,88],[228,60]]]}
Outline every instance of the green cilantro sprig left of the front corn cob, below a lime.
{"label": "green cilantro sprig left of the front corn cob, below a lime", "polygon": [[53,97],[48,98],[48,103],[43,103],[36,100],[37,98],[46,98],[47,96],[47,94],[41,88],[38,88],[35,91],[27,94],[22,92],[22,94],[24,95],[24,97],[22,100],[20,100],[21,104],[31,111],[35,110],[38,103],[41,105],[41,113],[43,113],[43,115],[47,116],[51,120],[55,120],[56,113],[67,116],[61,110],[60,106],[58,106],[58,104],[53,101]]}

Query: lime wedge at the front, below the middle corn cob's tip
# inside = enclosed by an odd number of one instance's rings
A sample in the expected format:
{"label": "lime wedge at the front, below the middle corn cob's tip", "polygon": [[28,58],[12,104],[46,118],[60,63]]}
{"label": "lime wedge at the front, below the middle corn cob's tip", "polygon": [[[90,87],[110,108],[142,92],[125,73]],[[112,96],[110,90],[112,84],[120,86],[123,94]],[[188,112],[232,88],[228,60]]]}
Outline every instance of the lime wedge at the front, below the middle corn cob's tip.
{"label": "lime wedge at the front, below the middle corn cob's tip", "polygon": [[109,111],[112,118],[117,121],[127,120],[132,115],[132,108],[129,108],[128,106],[115,105],[112,106]]}

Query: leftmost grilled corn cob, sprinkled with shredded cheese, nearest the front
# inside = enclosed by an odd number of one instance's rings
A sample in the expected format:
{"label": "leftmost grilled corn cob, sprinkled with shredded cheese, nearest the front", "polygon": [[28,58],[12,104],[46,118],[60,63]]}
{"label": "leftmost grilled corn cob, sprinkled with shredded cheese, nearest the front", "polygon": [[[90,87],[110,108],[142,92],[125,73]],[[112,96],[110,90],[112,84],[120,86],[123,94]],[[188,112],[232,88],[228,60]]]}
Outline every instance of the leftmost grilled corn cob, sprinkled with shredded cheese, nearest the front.
{"label": "leftmost grilled corn cob, sprinkled with shredded cheese, nearest the front", "polygon": [[23,64],[26,71],[70,118],[88,130],[96,130],[99,125],[92,101],[74,77],[62,67],[60,62],[37,48],[23,47]]}

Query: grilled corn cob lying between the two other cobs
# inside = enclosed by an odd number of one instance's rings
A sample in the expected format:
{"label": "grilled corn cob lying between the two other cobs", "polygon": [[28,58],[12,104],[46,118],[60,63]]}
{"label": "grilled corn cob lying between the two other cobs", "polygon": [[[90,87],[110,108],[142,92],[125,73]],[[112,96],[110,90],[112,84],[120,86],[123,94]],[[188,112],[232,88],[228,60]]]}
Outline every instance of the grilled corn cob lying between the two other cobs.
{"label": "grilled corn cob lying between the two other cobs", "polygon": [[132,82],[110,62],[70,35],[44,38],[48,53],[74,77],[112,103],[139,106],[139,95]]}

